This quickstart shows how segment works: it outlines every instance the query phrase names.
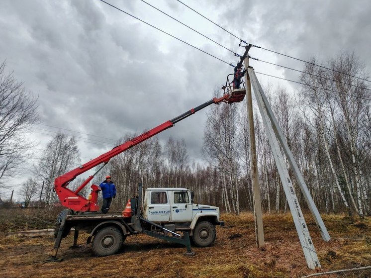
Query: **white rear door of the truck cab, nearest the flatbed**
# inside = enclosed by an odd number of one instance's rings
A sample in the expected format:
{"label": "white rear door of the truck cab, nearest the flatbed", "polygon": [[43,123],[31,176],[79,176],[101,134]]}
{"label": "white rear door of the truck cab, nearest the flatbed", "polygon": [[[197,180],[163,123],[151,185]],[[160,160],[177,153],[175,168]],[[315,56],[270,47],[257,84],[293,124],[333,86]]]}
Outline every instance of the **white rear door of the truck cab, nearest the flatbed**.
{"label": "white rear door of the truck cab, nearest the flatbed", "polygon": [[147,219],[153,222],[170,220],[170,202],[166,191],[151,191]]}

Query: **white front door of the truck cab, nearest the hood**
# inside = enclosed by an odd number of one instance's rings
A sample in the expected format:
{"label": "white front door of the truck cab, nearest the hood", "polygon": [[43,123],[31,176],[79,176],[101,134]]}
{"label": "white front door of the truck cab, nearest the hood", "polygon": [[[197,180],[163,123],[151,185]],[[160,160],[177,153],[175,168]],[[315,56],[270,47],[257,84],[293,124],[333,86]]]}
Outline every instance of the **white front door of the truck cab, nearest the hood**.
{"label": "white front door of the truck cab, nearest the hood", "polygon": [[188,191],[174,191],[172,204],[172,221],[192,221],[192,204]]}

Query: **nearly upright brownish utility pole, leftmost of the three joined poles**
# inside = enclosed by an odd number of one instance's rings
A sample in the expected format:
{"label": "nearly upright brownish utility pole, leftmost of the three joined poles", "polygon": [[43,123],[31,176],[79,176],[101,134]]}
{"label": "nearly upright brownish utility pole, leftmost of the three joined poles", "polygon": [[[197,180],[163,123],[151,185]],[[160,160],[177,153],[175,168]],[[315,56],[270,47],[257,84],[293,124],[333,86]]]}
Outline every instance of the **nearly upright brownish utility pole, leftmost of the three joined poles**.
{"label": "nearly upright brownish utility pole, leftmost of the three joined poles", "polygon": [[[249,67],[249,55],[245,58],[245,68]],[[256,244],[259,248],[264,247],[264,230],[263,230],[263,213],[262,202],[260,198],[259,172],[255,146],[254,114],[253,99],[251,95],[251,84],[249,74],[245,73],[246,87],[246,109],[250,127],[250,162],[251,162],[251,182],[254,189],[254,220],[255,220],[255,237]]]}

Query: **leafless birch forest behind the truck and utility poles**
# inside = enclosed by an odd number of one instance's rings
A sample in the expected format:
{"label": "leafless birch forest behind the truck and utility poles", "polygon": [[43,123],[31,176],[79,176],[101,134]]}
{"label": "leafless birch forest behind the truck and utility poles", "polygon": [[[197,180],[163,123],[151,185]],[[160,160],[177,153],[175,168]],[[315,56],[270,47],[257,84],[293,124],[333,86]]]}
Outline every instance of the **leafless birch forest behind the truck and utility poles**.
{"label": "leafless birch forest behind the truck and utility poles", "polygon": [[[371,91],[367,69],[354,53],[348,52],[323,64],[314,58],[309,62],[299,76],[303,85],[297,91],[269,85],[263,86],[264,91],[318,209],[324,213],[370,215]],[[136,194],[136,185],[143,182],[144,188],[190,188],[195,192],[196,202],[217,205],[226,212],[252,210],[246,107],[213,105],[206,113],[200,150],[206,165],[189,159],[184,140],[169,138],[162,145],[154,137],[112,158],[93,183],[99,184],[110,174],[117,187],[114,205],[118,208],[125,206],[128,197]],[[285,211],[286,197],[258,113],[254,121],[263,209]],[[135,136],[126,134],[117,143]],[[78,163],[76,140],[59,132],[33,167],[44,181],[42,198],[47,204],[57,200],[54,179]],[[305,209],[290,170],[289,175]],[[30,178],[22,188],[32,182]],[[79,183],[82,179],[69,186]],[[89,187],[82,193],[89,194]]]}

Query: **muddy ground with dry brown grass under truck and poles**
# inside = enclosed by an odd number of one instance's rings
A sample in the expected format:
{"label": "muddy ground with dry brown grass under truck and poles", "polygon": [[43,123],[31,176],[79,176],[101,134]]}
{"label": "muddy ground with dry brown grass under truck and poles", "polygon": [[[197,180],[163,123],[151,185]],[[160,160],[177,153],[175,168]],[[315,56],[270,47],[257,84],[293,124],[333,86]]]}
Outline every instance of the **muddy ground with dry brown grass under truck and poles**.
{"label": "muddy ground with dry brown grass under truck and poles", "polygon": [[[95,257],[86,235],[80,249],[69,249],[73,235],[62,240],[60,263],[44,263],[54,237],[0,236],[0,277],[302,277],[324,271],[371,265],[371,220],[344,215],[323,215],[332,237],[324,242],[315,222],[306,215],[322,269],[309,270],[290,214],[266,214],[266,247],[258,250],[254,218],[222,215],[225,227],[217,227],[211,247],[196,248],[195,256],[184,256],[186,248],[145,235],[128,237],[119,254]],[[322,277],[371,277],[371,270]]]}

